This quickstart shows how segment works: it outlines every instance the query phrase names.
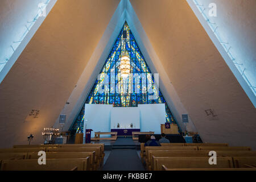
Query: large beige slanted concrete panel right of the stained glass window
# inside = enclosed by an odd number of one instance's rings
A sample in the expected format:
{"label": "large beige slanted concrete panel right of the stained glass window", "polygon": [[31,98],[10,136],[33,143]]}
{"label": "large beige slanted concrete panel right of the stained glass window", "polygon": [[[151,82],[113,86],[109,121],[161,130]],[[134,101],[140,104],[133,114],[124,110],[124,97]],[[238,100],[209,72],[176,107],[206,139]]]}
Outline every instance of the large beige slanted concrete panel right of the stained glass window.
{"label": "large beige slanted concrete panel right of the stained glass window", "polygon": [[187,1],[131,5],[204,142],[256,147],[255,108]]}

